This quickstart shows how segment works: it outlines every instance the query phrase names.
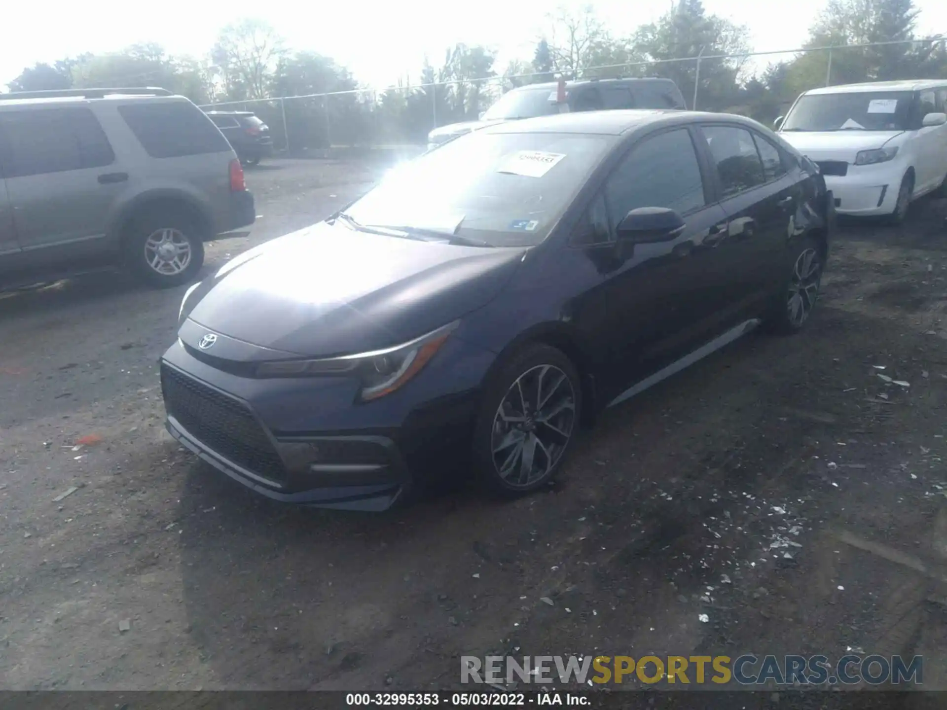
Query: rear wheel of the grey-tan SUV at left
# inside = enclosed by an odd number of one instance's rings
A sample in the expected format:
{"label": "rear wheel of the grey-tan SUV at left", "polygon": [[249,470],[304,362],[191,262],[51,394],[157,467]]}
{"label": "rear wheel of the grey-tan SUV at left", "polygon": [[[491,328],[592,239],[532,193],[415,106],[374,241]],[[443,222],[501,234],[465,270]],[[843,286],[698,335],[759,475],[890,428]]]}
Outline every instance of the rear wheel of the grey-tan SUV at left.
{"label": "rear wheel of the grey-tan SUV at left", "polygon": [[192,281],[204,265],[201,230],[175,210],[147,213],[132,223],[125,240],[128,266],[159,289]]}

